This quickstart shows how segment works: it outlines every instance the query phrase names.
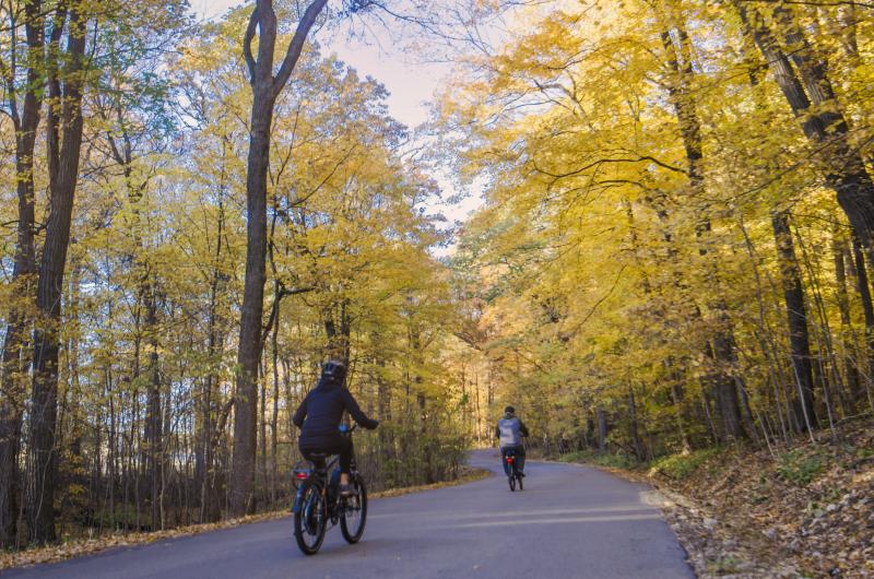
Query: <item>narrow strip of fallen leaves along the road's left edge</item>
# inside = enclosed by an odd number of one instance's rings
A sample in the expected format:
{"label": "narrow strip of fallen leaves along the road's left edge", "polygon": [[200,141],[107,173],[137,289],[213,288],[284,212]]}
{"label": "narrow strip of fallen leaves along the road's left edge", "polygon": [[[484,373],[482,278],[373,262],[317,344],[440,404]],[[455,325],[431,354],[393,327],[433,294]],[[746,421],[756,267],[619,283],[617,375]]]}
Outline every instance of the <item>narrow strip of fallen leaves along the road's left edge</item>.
{"label": "narrow strip of fallen leaves along the road's left edge", "polygon": [[[456,486],[474,481],[480,481],[489,475],[489,472],[484,469],[470,469],[463,468],[457,478],[451,481],[442,481],[439,483],[405,486],[400,488],[389,488],[377,493],[370,493],[368,498],[388,498],[406,495],[410,493],[418,493],[422,491],[432,491],[434,488],[442,488],[446,486]],[[165,539],[174,539],[177,536],[194,535],[205,533],[208,531],[215,531],[217,529],[229,529],[240,524],[253,523],[259,521],[269,521],[288,516],[288,508],[274,510],[269,512],[261,512],[238,519],[227,519],[224,521],[202,524],[191,524],[187,527],[179,527],[176,529],[168,529],[165,531],[154,532],[133,532],[133,533],[109,533],[94,537],[71,539],[55,545],[46,545],[42,547],[33,547],[23,551],[0,551],[0,570],[13,567],[24,567],[31,565],[39,565],[44,563],[56,563],[72,557],[80,557],[82,555],[91,555],[113,547],[121,546],[135,546],[161,541]]]}

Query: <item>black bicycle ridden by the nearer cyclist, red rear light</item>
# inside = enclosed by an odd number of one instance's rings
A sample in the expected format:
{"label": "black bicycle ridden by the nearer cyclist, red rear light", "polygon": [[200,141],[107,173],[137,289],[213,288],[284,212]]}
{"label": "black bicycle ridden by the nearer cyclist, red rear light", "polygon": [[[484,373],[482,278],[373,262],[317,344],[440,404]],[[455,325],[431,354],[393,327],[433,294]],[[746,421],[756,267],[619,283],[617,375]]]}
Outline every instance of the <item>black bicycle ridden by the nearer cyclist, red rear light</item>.
{"label": "black bicycle ridden by the nearer cyclist, red rear light", "polygon": [[[344,436],[352,436],[355,429],[346,425],[340,426]],[[340,522],[343,539],[350,544],[361,541],[364,525],[367,522],[367,488],[364,478],[352,458],[350,485],[353,494],[341,496],[340,469],[331,471],[339,458],[334,457],[326,464],[328,454],[312,453],[312,464],[309,461],[298,464],[294,470],[294,481],[297,495],[294,499],[294,536],[297,546],[307,555],[319,552],[328,524],[333,527]],[[328,473],[331,472],[329,477]]]}

